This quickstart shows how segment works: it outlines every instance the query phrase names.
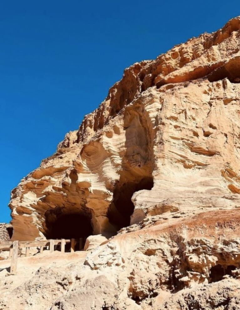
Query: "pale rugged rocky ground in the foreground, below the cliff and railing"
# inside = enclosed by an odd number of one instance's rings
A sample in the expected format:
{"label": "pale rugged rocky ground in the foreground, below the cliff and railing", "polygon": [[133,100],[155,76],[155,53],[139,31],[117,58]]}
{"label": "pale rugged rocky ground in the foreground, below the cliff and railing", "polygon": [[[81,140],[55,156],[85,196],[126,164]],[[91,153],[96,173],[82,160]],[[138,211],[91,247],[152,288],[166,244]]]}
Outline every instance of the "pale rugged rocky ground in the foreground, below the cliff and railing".
{"label": "pale rugged rocky ground in the foreground, below the cliff and railing", "polygon": [[[89,251],[0,262],[0,309],[239,309],[240,214],[154,216]],[[37,308],[36,308],[37,307]]]}

